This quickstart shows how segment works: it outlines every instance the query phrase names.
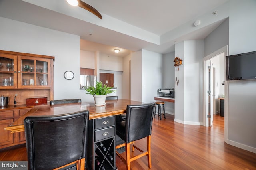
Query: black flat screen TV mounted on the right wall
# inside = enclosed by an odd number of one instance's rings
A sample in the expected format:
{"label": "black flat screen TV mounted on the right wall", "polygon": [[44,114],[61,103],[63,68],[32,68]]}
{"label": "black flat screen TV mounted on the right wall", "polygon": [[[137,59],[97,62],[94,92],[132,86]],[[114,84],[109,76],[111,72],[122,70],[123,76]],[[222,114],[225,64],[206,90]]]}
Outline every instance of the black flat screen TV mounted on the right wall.
{"label": "black flat screen TV mounted on the right wall", "polygon": [[226,56],[226,78],[256,79],[256,51]]}

